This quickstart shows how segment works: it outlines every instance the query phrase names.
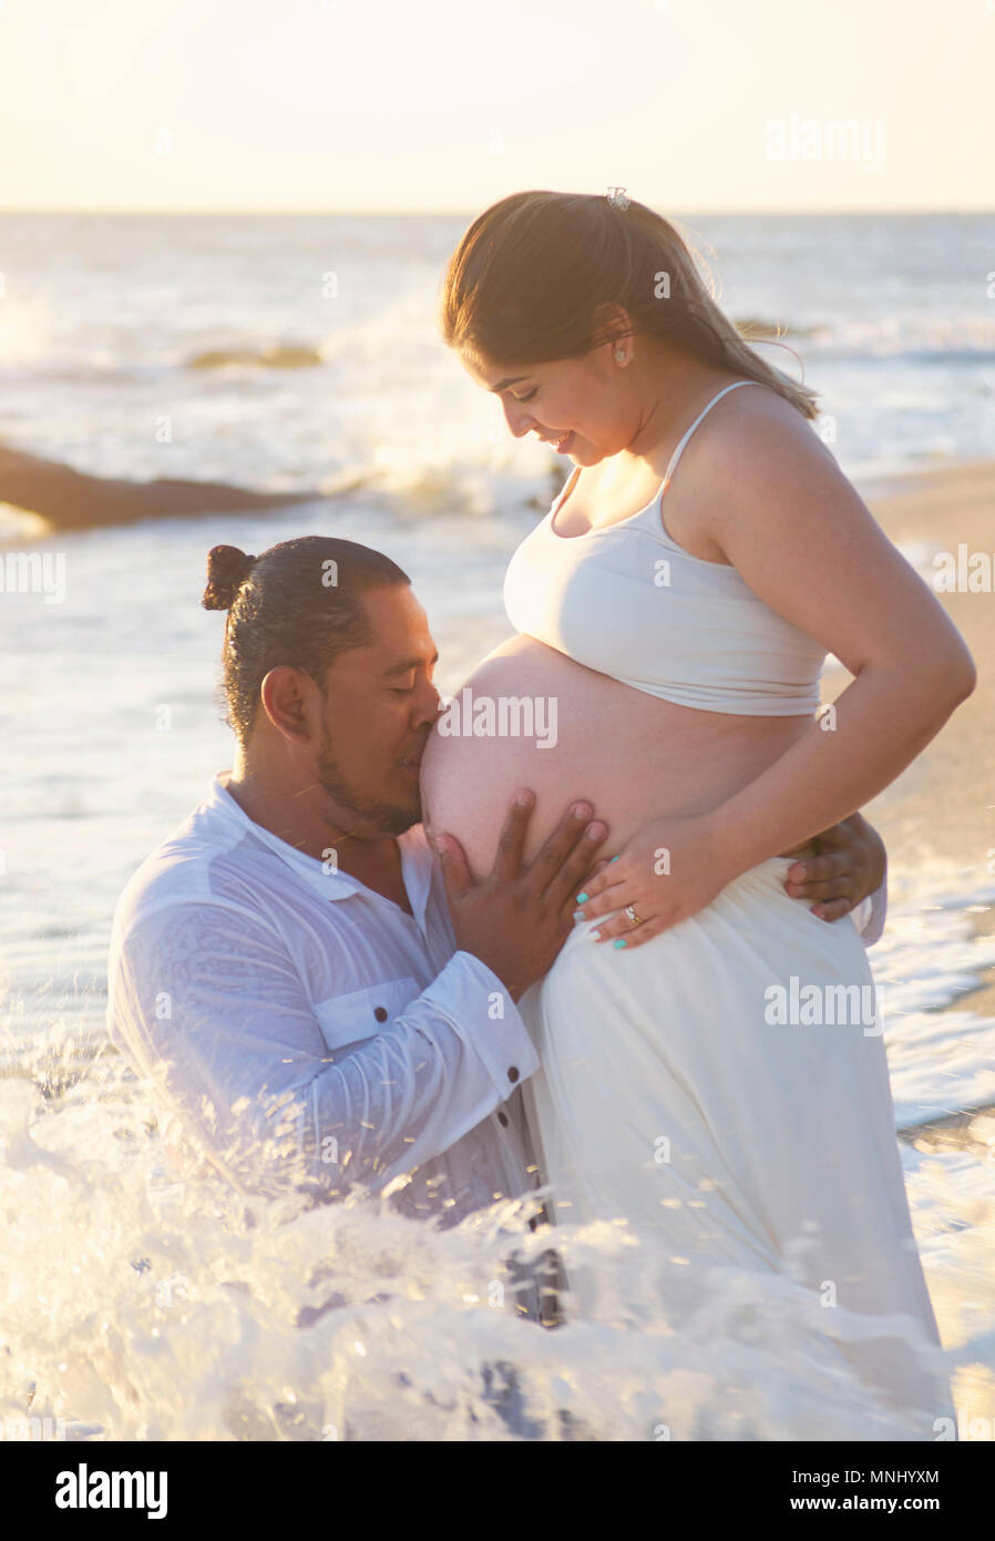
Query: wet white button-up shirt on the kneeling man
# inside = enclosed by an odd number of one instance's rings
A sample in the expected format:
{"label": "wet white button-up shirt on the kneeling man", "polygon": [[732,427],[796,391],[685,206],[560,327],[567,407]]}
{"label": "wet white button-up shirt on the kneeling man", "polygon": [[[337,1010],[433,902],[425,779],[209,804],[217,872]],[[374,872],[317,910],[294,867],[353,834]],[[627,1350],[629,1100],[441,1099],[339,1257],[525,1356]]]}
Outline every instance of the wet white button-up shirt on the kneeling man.
{"label": "wet white button-up shirt on the kneeling man", "polygon": [[454,1224],[534,1188],[516,1093],[536,1051],[498,975],[456,951],[422,826],[397,840],[408,915],[223,780],[119,900],[117,1048],[248,1191],[394,1185],[391,1205]]}

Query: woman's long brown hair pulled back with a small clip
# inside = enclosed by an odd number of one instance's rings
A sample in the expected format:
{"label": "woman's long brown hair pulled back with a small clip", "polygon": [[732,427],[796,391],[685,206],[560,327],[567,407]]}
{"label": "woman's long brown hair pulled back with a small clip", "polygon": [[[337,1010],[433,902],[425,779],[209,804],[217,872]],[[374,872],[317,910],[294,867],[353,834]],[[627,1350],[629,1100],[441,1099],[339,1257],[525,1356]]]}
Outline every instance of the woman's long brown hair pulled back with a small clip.
{"label": "woman's long brown hair pulled back with a small clip", "polygon": [[767,364],[722,313],[673,225],[635,199],[511,193],[474,219],[442,280],[448,347],[498,365],[579,358],[622,331],[652,333],[702,362],[770,385],[804,418],[815,391]]}

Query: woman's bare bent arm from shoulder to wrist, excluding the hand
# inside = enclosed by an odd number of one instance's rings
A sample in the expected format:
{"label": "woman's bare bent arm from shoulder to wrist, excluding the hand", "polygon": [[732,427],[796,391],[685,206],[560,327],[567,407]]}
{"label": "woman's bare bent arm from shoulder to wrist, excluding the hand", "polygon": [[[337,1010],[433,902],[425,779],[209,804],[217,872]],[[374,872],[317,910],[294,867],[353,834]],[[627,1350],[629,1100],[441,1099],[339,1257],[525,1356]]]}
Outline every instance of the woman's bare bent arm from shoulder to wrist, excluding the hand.
{"label": "woman's bare bent arm from shoulder to wrist, excluding the hand", "polygon": [[[742,425],[736,435],[742,441]],[[749,464],[716,456],[709,532],[753,592],[855,676],[779,760],[712,815],[735,874],[876,797],[975,687],[940,601],[884,536],[810,427],[764,413]]]}

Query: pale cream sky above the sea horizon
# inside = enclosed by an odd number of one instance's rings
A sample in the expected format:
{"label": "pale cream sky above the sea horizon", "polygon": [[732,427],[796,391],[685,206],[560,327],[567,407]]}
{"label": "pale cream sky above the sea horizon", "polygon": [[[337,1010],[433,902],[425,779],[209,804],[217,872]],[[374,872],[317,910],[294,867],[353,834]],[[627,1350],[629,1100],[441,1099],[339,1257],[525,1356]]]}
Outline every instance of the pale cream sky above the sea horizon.
{"label": "pale cream sky above the sea horizon", "polygon": [[0,0],[0,208],[992,208],[992,80],[995,0]]}

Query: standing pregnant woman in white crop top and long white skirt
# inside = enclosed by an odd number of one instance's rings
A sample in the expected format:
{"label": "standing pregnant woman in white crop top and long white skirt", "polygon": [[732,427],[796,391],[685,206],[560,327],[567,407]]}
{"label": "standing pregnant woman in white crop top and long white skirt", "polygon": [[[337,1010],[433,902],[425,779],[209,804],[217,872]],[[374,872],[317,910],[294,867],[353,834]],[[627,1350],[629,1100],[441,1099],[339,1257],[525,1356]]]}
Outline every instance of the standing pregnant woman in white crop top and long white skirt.
{"label": "standing pregnant woman in white crop top and long white skirt", "polygon": [[[970,656],[809,425],[812,393],[652,210],[502,199],[450,262],[442,325],[510,431],[575,462],[507,572],[518,635],[422,760],[430,832],[476,872],[516,786],[536,794],[527,857],[565,797],[610,826],[522,997],[556,1214],[656,1237],[675,1324],[702,1265],[793,1277],[836,1308],[850,1364],[940,1416],[866,952],[849,917],[786,894],[779,852],[915,758],[973,689]],[[853,681],[819,717],[830,650]],[[596,1310],[595,1281],[570,1282]],[[903,1321],[852,1341],[847,1313]]]}

